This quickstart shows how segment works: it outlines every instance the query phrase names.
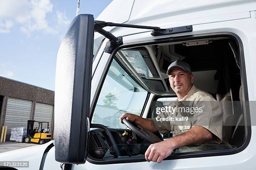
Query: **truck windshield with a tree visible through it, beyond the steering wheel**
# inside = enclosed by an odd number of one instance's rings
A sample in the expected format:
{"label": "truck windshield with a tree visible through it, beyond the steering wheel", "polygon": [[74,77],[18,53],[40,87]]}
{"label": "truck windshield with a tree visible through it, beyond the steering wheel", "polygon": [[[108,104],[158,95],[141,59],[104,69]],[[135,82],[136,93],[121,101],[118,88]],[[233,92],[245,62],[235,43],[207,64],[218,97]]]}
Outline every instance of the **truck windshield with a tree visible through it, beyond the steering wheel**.
{"label": "truck windshield with a tree visible through it, beyond the steering wheel", "polygon": [[147,93],[113,60],[103,83],[92,123],[125,129],[126,126],[119,121],[120,115],[123,112],[141,115]]}

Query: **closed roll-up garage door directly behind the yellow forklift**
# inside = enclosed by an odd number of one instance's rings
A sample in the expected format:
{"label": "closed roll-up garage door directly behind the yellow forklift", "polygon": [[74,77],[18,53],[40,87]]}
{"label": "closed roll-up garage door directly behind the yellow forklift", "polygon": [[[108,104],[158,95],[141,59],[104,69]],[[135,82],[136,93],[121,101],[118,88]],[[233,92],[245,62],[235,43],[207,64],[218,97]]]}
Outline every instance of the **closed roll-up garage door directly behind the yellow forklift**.
{"label": "closed roll-up garage door directly behind the yellow forklift", "polygon": [[[53,116],[53,105],[47,105],[43,103],[36,103],[34,120],[41,122],[49,122],[49,128],[51,128],[52,116]],[[34,124],[36,127],[37,124]],[[47,124],[43,123],[43,128],[47,128]]]}

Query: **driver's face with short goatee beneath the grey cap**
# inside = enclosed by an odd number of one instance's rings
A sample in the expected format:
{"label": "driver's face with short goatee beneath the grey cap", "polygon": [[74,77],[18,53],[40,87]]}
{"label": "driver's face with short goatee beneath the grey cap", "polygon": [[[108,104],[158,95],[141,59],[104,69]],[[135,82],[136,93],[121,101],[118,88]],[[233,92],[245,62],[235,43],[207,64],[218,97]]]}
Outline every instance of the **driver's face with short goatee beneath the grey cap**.
{"label": "driver's face with short goatee beneath the grey cap", "polygon": [[180,67],[174,67],[169,74],[172,90],[181,96],[187,95],[194,82],[194,76]]}

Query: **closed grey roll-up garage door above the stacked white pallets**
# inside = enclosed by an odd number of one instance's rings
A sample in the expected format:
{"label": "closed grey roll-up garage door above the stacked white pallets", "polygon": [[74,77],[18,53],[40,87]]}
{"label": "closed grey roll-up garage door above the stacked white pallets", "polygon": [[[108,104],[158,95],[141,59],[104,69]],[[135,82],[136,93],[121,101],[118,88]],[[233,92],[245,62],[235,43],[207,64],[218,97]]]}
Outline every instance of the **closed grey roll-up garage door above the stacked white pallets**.
{"label": "closed grey roll-up garage door above the stacked white pallets", "polygon": [[6,139],[10,139],[11,128],[27,127],[31,117],[32,101],[8,97],[5,126],[7,126]]}

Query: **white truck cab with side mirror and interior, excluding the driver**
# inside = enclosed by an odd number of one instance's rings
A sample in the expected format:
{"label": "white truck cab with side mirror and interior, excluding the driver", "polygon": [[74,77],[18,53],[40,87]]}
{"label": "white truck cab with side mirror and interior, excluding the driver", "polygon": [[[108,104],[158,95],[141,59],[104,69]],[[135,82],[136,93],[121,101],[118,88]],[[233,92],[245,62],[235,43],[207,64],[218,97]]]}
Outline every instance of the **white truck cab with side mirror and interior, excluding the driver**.
{"label": "white truck cab with side mirror and interior, excluding the driver", "polygon": [[[255,11],[253,0],[114,0],[96,20],[78,15],[57,56],[55,140],[40,146],[31,167],[255,169]],[[128,112],[152,119],[157,108],[177,100],[166,75],[175,60],[189,63],[194,85],[215,98],[223,139],[177,148],[161,163],[148,163],[147,148],[172,132],[151,133],[119,117]],[[19,152],[5,159],[30,158]]]}

